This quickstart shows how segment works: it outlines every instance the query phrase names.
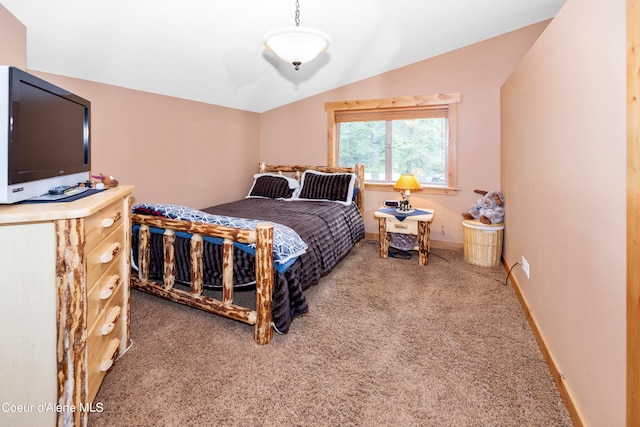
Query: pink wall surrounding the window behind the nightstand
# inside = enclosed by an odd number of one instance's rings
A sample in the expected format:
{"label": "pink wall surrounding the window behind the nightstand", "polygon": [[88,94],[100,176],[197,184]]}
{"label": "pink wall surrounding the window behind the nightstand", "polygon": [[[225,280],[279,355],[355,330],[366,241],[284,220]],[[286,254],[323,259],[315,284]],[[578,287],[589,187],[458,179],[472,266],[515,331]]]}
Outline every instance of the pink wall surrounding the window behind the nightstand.
{"label": "pink wall surrounding the window behind the nightstand", "polygon": [[[458,186],[455,196],[412,193],[412,204],[436,210],[431,238],[461,247],[462,217],[474,189],[500,190],[500,86],[544,30],[543,22],[451,53],[350,84],[261,114],[261,158],[280,163],[327,163],[325,102],[460,92]],[[365,219],[398,193],[368,191]],[[508,215],[508,204],[506,209]]]}

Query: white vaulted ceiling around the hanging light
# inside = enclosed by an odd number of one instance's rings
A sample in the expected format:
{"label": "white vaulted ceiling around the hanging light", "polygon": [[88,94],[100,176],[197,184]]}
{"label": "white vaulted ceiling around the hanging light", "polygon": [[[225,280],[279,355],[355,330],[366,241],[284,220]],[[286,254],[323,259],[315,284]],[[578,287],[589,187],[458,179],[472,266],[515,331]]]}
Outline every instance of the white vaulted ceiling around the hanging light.
{"label": "white vaulted ceiling around the hanging light", "polygon": [[295,71],[262,37],[295,0],[0,0],[27,27],[27,67],[264,112],[552,18],[565,0],[299,0],[332,39]]}

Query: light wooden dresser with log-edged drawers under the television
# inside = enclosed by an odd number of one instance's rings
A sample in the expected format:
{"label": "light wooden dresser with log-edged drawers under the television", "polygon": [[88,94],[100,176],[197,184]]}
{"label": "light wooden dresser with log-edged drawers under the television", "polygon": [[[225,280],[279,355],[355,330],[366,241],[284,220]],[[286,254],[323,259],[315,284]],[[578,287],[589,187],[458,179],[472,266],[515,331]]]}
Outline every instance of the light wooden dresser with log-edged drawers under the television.
{"label": "light wooden dresser with log-edged drawers under the television", "polygon": [[81,426],[130,345],[131,192],[0,205],[0,425]]}

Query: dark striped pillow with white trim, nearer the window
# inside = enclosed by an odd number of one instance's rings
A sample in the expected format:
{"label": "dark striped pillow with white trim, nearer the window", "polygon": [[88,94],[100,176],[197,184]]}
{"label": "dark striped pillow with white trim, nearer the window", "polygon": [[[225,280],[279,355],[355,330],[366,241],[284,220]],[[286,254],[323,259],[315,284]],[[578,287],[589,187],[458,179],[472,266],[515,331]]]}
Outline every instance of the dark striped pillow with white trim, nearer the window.
{"label": "dark striped pillow with white trim, nearer the window", "polygon": [[307,170],[302,174],[299,200],[322,200],[349,205],[353,201],[356,176]]}

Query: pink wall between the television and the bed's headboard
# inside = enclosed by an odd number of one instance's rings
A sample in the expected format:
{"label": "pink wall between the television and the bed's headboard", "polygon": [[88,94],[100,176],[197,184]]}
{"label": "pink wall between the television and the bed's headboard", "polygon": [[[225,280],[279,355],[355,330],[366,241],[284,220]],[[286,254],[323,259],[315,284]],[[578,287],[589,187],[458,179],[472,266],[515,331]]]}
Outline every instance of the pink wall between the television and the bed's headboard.
{"label": "pink wall between the television and the bed's headboard", "polygon": [[258,114],[30,71],[91,100],[92,169],[134,184],[134,202],[202,208],[248,192]]}

